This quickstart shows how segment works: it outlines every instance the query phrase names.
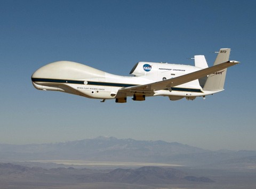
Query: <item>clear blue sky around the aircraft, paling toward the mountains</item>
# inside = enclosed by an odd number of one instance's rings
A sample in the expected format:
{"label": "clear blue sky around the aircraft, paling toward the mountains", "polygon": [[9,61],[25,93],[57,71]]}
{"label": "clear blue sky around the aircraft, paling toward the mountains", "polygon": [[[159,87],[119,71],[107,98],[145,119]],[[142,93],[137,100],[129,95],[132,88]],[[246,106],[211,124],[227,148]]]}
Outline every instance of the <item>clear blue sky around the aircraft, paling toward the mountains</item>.
{"label": "clear blue sky around the aircraft, paling toward the mountains", "polygon": [[[256,150],[255,1],[0,0],[0,143],[97,136]],[[31,75],[60,60],[129,76],[138,61],[193,65],[231,48],[225,91],[115,103],[36,90]]]}

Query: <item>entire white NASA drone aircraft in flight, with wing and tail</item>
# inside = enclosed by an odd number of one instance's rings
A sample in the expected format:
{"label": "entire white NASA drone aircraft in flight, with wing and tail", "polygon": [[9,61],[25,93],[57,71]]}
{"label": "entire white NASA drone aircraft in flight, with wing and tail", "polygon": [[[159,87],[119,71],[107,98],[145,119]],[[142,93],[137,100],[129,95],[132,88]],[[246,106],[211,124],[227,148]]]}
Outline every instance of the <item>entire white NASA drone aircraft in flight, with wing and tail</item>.
{"label": "entire white NASA drone aircraft in flight, with wing and tail", "polygon": [[212,67],[208,68],[203,55],[194,56],[195,66],[156,62],[138,62],[133,76],[113,75],[87,65],[58,61],[36,70],[31,76],[35,88],[60,91],[89,98],[114,99],[126,102],[144,101],[148,96],[168,96],[170,100],[194,100],[197,96],[224,90],[227,68],[237,61],[229,61],[230,48],[221,48]]}

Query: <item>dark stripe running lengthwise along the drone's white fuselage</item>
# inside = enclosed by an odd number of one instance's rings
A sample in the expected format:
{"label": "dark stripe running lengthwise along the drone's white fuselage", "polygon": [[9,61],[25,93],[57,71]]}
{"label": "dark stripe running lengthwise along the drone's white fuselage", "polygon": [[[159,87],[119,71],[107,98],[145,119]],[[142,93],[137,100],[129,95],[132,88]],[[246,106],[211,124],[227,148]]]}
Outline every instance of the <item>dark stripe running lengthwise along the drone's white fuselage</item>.
{"label": "dark stripe running lengthwise along the drone's white fuselage", "polygon": [[[33,82],[49,82],[49,83],[66,83],[66,84],[80,84],[84,85],[84,81],[78,80],[66,80],[66,79],[46,79],[46,78],[31,78]],[[134,84],[121,84],[121,83],[106,83],[98,81],[87,81],[87,85],[100,85],[100,86],[109,86],[109,87],[133,87],[137,86]],[[168,89],[165,89],[168,90]],[[172,91],[182,91],[182,92],[194,92],[194,93],[203,93],[201,89],[194,88],[179,88],[172,87]]]}

